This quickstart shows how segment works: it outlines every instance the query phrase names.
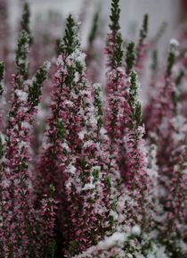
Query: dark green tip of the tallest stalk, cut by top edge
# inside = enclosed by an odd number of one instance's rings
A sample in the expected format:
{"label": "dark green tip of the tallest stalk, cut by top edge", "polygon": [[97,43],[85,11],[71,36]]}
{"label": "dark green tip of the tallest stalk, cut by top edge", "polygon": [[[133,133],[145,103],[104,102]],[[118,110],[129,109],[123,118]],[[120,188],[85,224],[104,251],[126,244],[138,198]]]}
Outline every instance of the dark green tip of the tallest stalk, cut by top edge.
{"label": "dark green tip of the tallest stalk, cut by top edge", "polygon": [[114,31],[114,33],[117,32],[118,29],[120,29],[119,17],[120,17],[119,0],[112,0],[111,14],[110,14],[110,29]]}

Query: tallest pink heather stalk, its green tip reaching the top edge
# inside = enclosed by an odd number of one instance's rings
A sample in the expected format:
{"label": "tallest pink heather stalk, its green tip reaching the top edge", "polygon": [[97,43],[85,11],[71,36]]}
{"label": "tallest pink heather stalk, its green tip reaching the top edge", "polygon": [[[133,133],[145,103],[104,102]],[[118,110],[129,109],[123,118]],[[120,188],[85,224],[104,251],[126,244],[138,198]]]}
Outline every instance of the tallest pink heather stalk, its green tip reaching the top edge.
{"label": "tallest pink heather stalk, its green tip reaching the top edge", "polygon": [[126,123],[126,86],[125,71],[123,67],[122,37],[119,32],[119,5],[118,1],[112,1],[110,15],[111,32],[107,38],[106,53],[109,59],[107,72],[107,104],[105,127],[110,137],[110,163],[115,157],[120,160],[120,147],[123,135],[121,125]]}

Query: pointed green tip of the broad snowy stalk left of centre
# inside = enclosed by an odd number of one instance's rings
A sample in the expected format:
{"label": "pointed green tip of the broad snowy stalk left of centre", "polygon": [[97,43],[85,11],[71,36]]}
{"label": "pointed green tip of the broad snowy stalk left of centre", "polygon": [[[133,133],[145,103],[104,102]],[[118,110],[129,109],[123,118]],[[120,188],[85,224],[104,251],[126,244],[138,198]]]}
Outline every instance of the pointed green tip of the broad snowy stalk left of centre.
{"label": "pointed green tip of the broad snowy stalk left of centre", "polygon": [[78,46],[80,46],[80,42],[78,38],[77,21],[69,14],[66,22],[65,36],[61,44],[59,43],[58,45],[58,54],[72,54]]}

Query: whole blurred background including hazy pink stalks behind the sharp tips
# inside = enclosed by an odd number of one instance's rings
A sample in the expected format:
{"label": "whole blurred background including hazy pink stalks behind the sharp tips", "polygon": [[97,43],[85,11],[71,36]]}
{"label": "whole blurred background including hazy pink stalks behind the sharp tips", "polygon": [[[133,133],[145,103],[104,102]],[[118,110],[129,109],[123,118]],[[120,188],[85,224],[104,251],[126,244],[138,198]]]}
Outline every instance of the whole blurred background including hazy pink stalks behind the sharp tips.
{"label": "whole blurred background including hazy pink stalks behind the sharp tips", "polygon": [[[69,12],[77,16],[82,34],[82,46],[87,54],[86,61],[92,60],[92,71],[97,79],[102,81],[103,49],[106,34],[109,31],[110,0],[27,0],[30,6],[30,27],[33,44],[30,51],[30,74],[35,72],[45,60],[53,61],[57,54],[58,39],[63,37],[65,19]],[[0,59],[7,64],[7,80],[15,71],[15,48],[20,31],[20,21],[25,0],[0,0]],[[149,54],[154,49],[159,50],[160,66],[164,65],[163,54],[166,54],[169,41],[176,37],[186,38],[187,0],[120,0],[121,31],[124,45],[129,40],[138,41],[142,18],[145,13],[150,16],[149,32],[146,42],[149,44]],[[98,14],[97,35],[94,47],[90,35],[94,24],[95,14]],[[91,54],[91,56],[89,56]],[[99,64],[99,65],[98,65]],[[142,84],[149,78],[148,69],[144,70]],[[98,68],[99,67],[99,68]],[[89,69],[88,69],[89,70]],[[89,71],[88,71],[89,73]],[[101,73],[99,78],[98,74]],[[148,73],[148,74],[145,74]],[[91,78],[93,81],[94,78]]]}

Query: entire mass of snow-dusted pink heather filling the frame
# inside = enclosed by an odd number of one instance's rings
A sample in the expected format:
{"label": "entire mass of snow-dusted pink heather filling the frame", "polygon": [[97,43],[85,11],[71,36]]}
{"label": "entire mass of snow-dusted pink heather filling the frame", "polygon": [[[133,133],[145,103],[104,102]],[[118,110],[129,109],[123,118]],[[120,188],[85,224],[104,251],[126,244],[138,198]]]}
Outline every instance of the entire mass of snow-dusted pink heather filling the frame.
{"label": "entire mass of snow-dusted pink heather filling the frame", "polygon": [[0,62],[0,258],[184,258],[185,34],[181,46],[171,39],[160,69],[148,15],[124,49],[111,0],[105,49],[95,12],[84,52],[86,4],[82,25],[69,14],[63,37],[47,25],[44,44],[25,3],[15,64],[6,54]]}

